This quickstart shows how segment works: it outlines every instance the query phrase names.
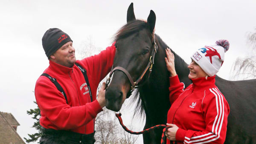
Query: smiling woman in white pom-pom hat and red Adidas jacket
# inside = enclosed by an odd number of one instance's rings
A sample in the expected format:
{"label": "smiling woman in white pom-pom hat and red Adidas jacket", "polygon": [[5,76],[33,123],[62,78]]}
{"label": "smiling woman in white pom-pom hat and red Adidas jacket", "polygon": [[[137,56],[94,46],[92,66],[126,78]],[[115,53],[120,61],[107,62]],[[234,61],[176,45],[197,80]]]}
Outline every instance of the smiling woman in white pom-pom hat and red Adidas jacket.
{"label": "smiling woman in white pom-pom hat and red Adidas jacket", "polygon": [[205,46],[191,56],[188,68],[192,80],[185,90],[175,72],[174,55],[166,49],[166,66],[170,72],[171,108],[167,114],[167,144],[223,144],[227,132],[229,105],[215,86],[215,74],[224,62],[224,52],[229,49],[227,40],[216,41],[215,46]]}

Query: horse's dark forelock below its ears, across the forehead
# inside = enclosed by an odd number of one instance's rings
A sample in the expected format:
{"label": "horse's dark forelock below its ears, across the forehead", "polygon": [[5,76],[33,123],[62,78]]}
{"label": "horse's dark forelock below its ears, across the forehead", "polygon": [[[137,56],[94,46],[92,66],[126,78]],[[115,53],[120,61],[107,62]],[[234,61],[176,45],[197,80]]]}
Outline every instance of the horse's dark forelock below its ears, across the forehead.
{"label": "horse's dark forelock below its ears, across the forehead", "polygon": [[[113,41],[128,37],[134,33],[138,33],[140,30],[145,29],[146,27],[147,23],[143,20],[134,20],[128,22],[116,32],[115,36],[113,37]],[[153,34],[151,36],[153,37]]]}

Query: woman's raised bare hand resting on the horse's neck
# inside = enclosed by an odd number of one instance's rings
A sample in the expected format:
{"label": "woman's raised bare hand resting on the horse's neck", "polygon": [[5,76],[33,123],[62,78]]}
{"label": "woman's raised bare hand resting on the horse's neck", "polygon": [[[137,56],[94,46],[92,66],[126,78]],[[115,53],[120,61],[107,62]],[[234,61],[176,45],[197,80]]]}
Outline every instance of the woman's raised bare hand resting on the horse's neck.
{"label": "woman's raised bare hand resting on the horse's neck", "polygon": [[174,55],[169,48],[166,48],[166,57],[164,60],[166,61],[167,70],[170,72],[170,76],[173,77],[177,74],[175,71]]}

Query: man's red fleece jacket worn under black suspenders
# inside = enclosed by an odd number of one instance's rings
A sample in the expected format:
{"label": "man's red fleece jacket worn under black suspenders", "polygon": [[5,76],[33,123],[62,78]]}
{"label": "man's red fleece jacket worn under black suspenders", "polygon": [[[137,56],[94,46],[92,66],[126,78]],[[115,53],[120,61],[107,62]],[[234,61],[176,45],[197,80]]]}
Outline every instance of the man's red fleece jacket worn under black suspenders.
{"label": "man's red fleece jacket worn under black suspenders", "polygon": [[87,71],[93,102],[90,100],[84,76],[76,65],[68,68],[49,60],[49,67],[44,73],[56,78],[67,95],[68,104],[61,92],[47,77],[39,77],[35,84],[35,98],[41,109],[40,124],[42,127],[83,134],[93,132],[93,118],[102,111],[96,100],[97,87],[110,72],[115,51],[113,43],[99,55],[76,61]]}

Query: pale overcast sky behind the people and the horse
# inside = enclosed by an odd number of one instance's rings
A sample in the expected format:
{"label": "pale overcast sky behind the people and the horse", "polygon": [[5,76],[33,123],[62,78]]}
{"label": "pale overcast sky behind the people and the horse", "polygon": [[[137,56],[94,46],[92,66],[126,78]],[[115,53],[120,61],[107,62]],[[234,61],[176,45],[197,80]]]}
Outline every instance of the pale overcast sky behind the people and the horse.
{"label": "pale overcast sky behind the people and the horse", "polygon": [[90,36],[105,49],[126,23],[131,2],[139,19],[155,12],[156,34],[187,63],[196,49],[229,40],[218,72],[224,79],[236,58],[247,55],[246,35],[256,28],[256,0],[0,0],[0,111],[15,116],[22,138],[35,132],[26,110],[36,107],[32,91],[49,65],[41,42],[44,32],[63,30],[76,49]]}

